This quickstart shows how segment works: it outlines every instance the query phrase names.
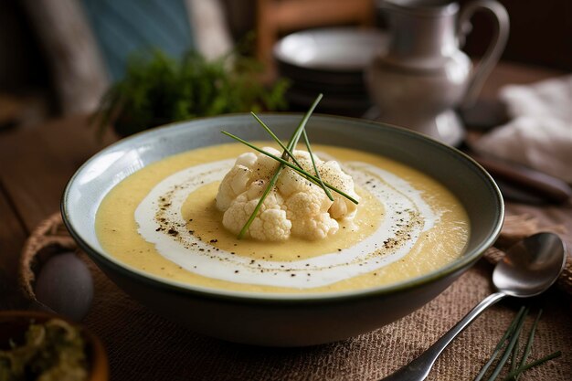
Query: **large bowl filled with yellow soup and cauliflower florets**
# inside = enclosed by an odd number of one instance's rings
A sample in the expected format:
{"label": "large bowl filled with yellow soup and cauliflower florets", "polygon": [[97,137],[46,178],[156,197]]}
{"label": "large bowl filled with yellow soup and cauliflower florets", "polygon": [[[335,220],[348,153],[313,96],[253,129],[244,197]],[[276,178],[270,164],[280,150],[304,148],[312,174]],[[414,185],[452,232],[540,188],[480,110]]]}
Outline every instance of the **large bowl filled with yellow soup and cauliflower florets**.
{"label": "large bowl filled with yellow soup and cauliflower florets", "polygon": [[[260,117],[284,142],[302,119]],[[500,192],[463,153],[334,116],[312,116],[306,131],[312,154],[301,141],[281,171],[268,155],[281,156],[281,146],[249,114],[134,135],[79,168],[64,221],[101,270],[154,312],[199,333],[275,346],[394,322],[447,288],[499,234]]]}

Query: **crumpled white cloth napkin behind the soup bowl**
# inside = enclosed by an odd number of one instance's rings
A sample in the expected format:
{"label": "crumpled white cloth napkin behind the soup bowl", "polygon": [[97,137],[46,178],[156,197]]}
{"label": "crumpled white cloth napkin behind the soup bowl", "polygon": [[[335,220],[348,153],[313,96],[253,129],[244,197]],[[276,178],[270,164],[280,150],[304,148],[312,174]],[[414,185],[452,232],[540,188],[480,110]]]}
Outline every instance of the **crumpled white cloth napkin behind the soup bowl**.
{"label": "crumpled white cloth napkin behind the soup bowl", "polygon": [[505,86],[499,98],[513,119],[484,134],[475,151],[572,183],[572,75]]}

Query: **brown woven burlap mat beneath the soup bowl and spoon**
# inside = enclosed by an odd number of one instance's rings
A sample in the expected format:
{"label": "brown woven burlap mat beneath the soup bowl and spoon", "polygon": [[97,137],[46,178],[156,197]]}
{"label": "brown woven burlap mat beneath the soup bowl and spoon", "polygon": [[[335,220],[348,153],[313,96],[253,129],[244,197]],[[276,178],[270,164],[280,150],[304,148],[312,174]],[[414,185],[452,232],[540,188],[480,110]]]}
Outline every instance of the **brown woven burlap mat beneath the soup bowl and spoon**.
{"label": "brown woven burlap mat beneath the soup bowl and spoon", "polygon": [[[95,284],[95,298],[83,323],[105,344],[113,380],[376,380],[421,354],[492,292],[493,267],[487,261],[496,262],[503,249],[540,230],[557,233],[562,227],[539,227],[528,216],[507,217],[495,248],[484,255],[486,260],[439,297],[396,323],[339,343],[260,348],[202,336],[134,302],[79,252]],[[58,248],[75,249],[75,244],[54,215],[37,228],[22,253],[21,284],[28,298],[35,298],[37,267],[45,257],[57,255]],[[564,355],[529,370],[521,380],[567,381],[572,375],[571,268],[568,257],[557,287],[526,301],[532,312],[544,310],[531,360],[556,350]],[[473,379],[523,303],[507,300],[484,312],[440,356],[428,379]],[[527,318],[525,329],[533,320]]]}

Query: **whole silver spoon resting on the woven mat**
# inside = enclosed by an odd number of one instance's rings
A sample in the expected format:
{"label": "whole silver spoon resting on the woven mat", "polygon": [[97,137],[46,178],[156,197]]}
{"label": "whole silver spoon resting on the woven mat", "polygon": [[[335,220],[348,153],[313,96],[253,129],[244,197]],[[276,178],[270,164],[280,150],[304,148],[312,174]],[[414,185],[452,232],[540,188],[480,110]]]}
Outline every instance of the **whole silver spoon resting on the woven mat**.
{"label": "whole silver spoon resting on the woven mat", "polygon": [[424,380],[441,352],[484,310],[506,296],[528,298],[546,291],[558,279],[565,264],[566,247],[556,234],[538,233],[514,244],[493,270],[493,284],[498,291],[477,304],[418,358],[382,381]]}

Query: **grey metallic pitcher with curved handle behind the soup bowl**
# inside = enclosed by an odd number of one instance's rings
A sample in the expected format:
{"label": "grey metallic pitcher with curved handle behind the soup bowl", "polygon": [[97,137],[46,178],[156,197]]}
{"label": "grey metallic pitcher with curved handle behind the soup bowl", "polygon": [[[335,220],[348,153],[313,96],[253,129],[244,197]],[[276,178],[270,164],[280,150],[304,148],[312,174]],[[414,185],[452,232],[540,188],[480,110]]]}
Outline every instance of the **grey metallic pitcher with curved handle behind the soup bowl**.
{"label": "grey metallic pitcher with curved handle behind the soup bowl", "polygon": [[[367,70],[381,122],[425,133],[451,145],[464,128],[454,111],[470,106],[503,52],[509,19],[503,5],[475,0],[462,9],[444,0],[384,0],[389,47]],[[475,68],[461,51],[476,11],[494,16],[493,40]]]}

